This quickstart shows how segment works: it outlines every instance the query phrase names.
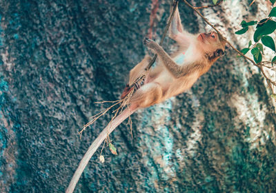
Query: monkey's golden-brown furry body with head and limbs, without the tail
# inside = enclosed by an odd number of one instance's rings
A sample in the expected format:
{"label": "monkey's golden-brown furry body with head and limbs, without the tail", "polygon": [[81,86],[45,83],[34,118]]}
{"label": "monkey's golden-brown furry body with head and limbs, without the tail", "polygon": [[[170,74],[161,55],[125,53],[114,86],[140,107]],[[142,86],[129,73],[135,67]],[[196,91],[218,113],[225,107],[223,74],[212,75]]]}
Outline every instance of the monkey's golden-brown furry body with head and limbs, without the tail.
{"label": "monkey's golden-brown furry body with head and limbs, without the tail", "polygon": [[[145,39],[144,44],[157,54],[157,65],[146,74],[145,84],[130,98],[134,108],[146,108],[171,96],[188,90],[195,81],[224,54],[225,40],[217,33],[193,35],[183,30],[178,9],[169,29],[170,37],[177,41],[179,50],[169,56],[155,41]],[[183,63],[175,59],[184,52]],[[144,73],[150,57],[146,56],[130,71],[131,85]]]}

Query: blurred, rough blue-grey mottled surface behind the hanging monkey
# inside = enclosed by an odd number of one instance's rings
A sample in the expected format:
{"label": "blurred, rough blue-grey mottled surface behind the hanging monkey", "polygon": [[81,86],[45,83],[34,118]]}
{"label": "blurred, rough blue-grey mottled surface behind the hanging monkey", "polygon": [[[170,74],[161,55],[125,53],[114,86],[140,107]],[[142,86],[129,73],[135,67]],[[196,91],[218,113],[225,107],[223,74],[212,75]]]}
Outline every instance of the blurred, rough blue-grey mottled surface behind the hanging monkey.
{"label": "blurred, rough blue-grey mottled surface behind the hanging monkey", "polygon": [[[202,10],[237,48],[243,19],[269,1],[224,1]],[[194,5],[212,1],[193,1]],[[128,71],[159,40],[164,0],[0,1],[0,192],[64,192],[90,143],[108,124]],[[155,10],[157,11],[155,14]],[[188,32],[210,30],[179,3]],[[151,20],[150,20],[151,19]],[[249,32],[249,34],[253,32]],[[248,35],[248,34],[247,34]],[[165,50],[173,41],[165,39]],[[268,56],[269,57],[269,56]],[[275,109],[256,68],[226,48],[193,88],[132,115],[110,134],[118,155],[98,150],[75,192],[275,192]]]}

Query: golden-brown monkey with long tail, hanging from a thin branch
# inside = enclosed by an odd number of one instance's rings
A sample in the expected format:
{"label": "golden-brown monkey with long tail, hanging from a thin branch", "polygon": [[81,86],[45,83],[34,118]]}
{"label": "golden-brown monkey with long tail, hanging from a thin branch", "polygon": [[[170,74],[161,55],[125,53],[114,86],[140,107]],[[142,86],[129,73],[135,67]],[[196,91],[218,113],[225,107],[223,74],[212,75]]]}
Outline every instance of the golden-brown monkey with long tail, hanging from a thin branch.
{"label": "golden-brown monkey with long tail, hanging from a thin branch", "polygon": [[151,60],[150,56],[146,55],[140,63],[130,70],[128,85],[121,95],[121,98],[124,98],[132,89],[135,89],[128,103],[129,108],[123,110],[110,122],[90,145],[72,176],[70,185],[66,190],[67,193],[73,192],[92,155],[108,134],[115,130],[121,122],[139,108],[147,108],[161,103],[190,89],[195,81],[202,74],[208,72],[213,63],[224,55],[226,40],[217,32],[200,34],[186,32],[181,25],[178,8],[176,8],[172,23],[170,23],[169,37],[175,40],[179,46],[178,50],[171,55],[152,39],[144,39],[144,45],[157,54],[156,66],[148,70],[142,83],[135,85],[135,88],[130,88],[129,85],[135,83],[137,78],[145,73],[145,68]]}

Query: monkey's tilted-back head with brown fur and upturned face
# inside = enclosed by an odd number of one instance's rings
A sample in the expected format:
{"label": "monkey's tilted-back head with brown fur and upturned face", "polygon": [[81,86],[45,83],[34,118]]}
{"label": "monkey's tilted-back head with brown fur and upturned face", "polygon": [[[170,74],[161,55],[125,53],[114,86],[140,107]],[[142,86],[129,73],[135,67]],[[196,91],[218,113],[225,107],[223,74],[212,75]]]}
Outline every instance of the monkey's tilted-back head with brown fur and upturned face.
{"label": "monkey's tilted-back head with brown fur and upturned face", "polygon": [[226,40],[220,34],[217,34],[217,32],[201,33],[197,37],[197,40],[210,61],[216,61],[224,55]]}

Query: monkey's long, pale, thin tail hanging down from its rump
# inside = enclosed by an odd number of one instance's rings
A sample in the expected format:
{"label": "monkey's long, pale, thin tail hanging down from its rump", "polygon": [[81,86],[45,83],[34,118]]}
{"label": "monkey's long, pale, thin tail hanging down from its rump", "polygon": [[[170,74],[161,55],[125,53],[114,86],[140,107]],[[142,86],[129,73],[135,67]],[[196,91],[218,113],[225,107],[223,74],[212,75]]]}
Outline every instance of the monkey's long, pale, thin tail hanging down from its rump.
{"label": "monkey's long, pale, thin tail hanging down from its rump", "polygon": [[72,193],[75,189],[75,186],[77,185],[77,182],[79,181],[79,177],[81,176],[84,168],[86,168],[86,165],[88,164],[89,160],[93,156],[93,154],[96,152],[96,150],[99,148],[99,145],[103,142],[103,140],[106,139],[106,136],[110,134],[117,126],[123,122],[130,114],[135,112],[136,108],[133,110],[126,109],[123,112],[121,112],[112,122],[108,123],[106,128],[103,129],[103,131],[99,134],[97,139],[93,141],[93,143],[88,148],[86,154],[84,154],[83,158],[81,159],[81,162],[79,163],[79,167],[77,167],[77,170],[72,176],[72,179],[70,181],[70,184],[67,187],[66,193]]}

